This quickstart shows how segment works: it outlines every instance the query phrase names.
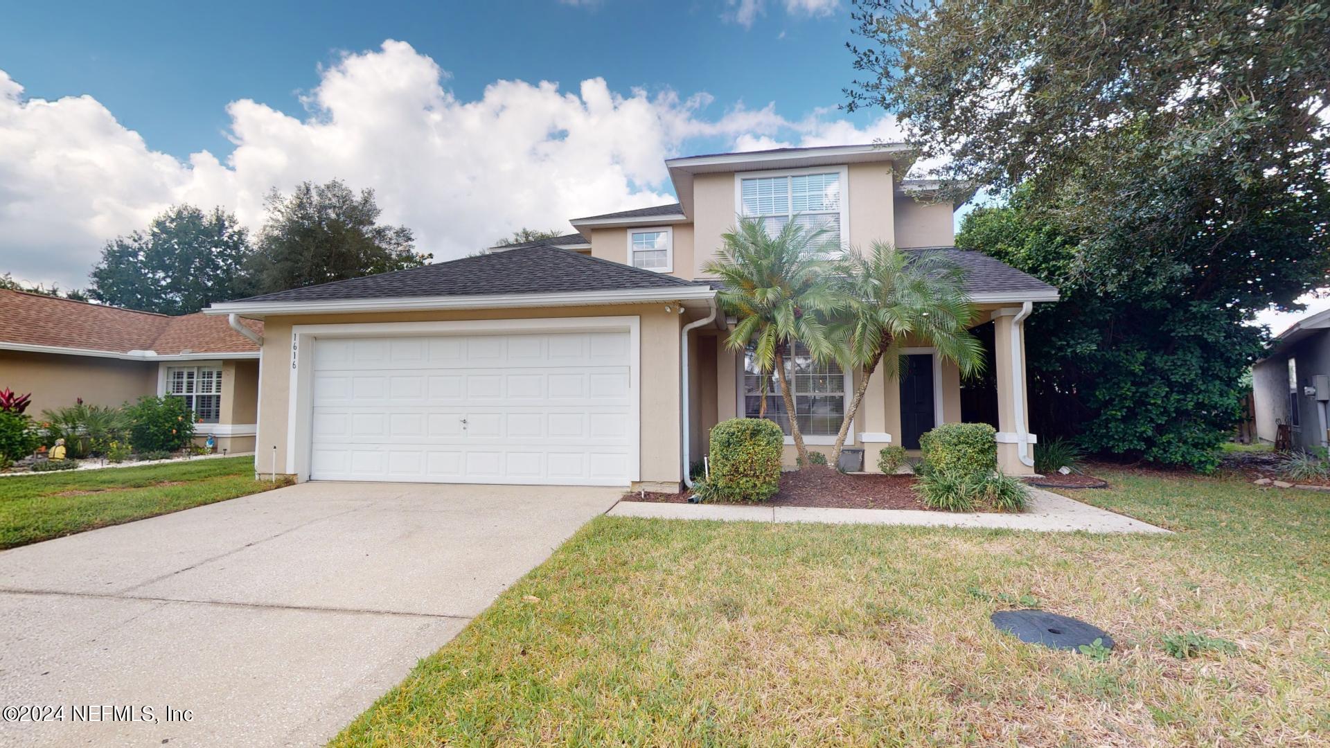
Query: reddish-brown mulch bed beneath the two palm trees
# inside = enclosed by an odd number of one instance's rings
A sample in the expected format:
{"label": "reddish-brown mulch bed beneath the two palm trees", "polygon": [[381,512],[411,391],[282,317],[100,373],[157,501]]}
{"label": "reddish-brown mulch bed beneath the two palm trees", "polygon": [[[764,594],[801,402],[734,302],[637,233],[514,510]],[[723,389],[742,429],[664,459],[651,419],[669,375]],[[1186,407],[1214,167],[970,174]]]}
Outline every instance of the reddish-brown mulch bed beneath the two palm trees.
{"label": "reddish-brown mulch bed beneath the two palm trees", "polygon": [[[825,508],[915,508],[932,511],[914,492],[914,475],[846,475],[810,466],[782,472],[781,490],[761,506]],[[625,502],[685,503],[692,491],[678,494],[625,494]],[[741,504],[757,506],[757,504]]]}

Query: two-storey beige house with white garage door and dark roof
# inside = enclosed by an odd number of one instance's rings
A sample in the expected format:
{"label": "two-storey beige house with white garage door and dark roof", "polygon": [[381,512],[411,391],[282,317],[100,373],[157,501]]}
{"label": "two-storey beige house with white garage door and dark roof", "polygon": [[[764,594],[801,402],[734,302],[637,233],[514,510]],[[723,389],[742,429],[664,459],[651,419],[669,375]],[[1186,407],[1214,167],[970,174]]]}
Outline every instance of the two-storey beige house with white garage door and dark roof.
{"label": "two-storey beige house with white garage door and dark roof", "polygon": [[[739,217],[798,216],[843,244],[943,248],[994,321],[999,459],[1032,472],[1023,319],[1057,290],[952,244],[936,185],[900,181],[903,145],[778,149],[666,162],[680,202],[576,218],[577,234],[412,270],[218,303],[266,325],[258,466],[326,480],[563,483],[677,490],[710,427],[759,409],[725,346],[704,265]],[[835,438],[857,371],[797,351],[797,417]],[[781,422],[774,386],[767,414]],[[960,375],[931,349],[874,374],[849,446],[918,449],[960,419]],[[793,447],[786,462],[794,462]]]}

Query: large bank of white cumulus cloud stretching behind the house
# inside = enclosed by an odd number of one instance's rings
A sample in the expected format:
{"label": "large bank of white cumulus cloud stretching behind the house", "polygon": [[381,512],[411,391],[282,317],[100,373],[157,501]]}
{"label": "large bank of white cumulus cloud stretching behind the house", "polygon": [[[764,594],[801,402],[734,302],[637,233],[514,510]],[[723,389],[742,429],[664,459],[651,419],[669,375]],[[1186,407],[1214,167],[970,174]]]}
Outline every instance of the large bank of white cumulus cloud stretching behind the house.
{"label": "large bank of white cumulus cloud stretching behind the house", "polygon": [[705,93],[625,94],[602,79],[575,91],[496,81],[467,101],[447,79],[432,59],[390,40],[322,71],[302,117],[233,101],[234,150],[182,161],[89,96],[25,98],[0,71],[0,273],[78,287],[108,238],[145,228],[169,205],[221,205],[257,229],[269,189],[331,178],[372,188],[384,221],[452,260],[521,226],[571,230],[571,217],[673,201],[664,160],[693,138],[753,149],[891,132],[884,121],[858,129],[827,112],[787,121],[771,104],[710,114]]}

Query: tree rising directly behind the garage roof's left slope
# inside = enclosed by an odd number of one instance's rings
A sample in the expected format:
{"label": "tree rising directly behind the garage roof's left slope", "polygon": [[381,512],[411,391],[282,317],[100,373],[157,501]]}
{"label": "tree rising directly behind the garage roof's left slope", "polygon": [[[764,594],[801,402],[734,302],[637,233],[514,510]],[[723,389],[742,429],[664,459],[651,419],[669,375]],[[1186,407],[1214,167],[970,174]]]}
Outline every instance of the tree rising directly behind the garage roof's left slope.
{"label": "tree rising directly behind the garage roof's left slope", "polygon": [[406,226],[379,224],[374,190],[352,192],[340,180],[302,182],[290,197],[267,196],[267,224],[247,264],[254,293],[313,286],[374,273],[419,268],[432,254],[415,252]]}

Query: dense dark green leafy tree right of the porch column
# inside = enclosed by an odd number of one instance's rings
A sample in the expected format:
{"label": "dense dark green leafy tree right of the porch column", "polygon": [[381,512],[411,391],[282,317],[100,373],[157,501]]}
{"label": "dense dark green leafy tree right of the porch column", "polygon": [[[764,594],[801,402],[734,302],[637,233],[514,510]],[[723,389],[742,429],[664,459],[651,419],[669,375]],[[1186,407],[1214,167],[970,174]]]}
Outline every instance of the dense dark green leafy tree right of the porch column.
{"label": "dense dark green leafy tree right of the porch column", "polygon": [[1011,205],[974,210],[956,245],[1061,290],[1025,321],[1031,430],[1040,441],[1076,437],[1095,453],[1214,467],[1264,330],[1244,325],[1236,306],[1193,301],[1189,287],[1107,291],[1087,281],[1077,238],[1028,200],[1017,193]]}

